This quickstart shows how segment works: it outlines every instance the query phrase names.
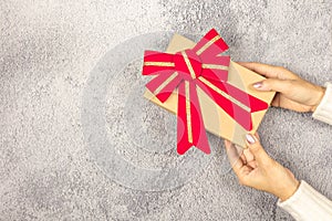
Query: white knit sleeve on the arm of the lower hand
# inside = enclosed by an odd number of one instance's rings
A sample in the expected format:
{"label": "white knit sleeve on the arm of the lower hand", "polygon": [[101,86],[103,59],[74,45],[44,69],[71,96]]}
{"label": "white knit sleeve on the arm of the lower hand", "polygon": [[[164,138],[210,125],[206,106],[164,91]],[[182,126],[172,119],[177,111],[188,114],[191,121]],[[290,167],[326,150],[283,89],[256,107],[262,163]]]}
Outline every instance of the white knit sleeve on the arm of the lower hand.
{"label": "white knit sleeve on the arm of the lower hand", "polygon": [[295,220],[332,220],[332,201],[303,180],[292,197],[282,202],[279,199],[277,204],[288,211]]}

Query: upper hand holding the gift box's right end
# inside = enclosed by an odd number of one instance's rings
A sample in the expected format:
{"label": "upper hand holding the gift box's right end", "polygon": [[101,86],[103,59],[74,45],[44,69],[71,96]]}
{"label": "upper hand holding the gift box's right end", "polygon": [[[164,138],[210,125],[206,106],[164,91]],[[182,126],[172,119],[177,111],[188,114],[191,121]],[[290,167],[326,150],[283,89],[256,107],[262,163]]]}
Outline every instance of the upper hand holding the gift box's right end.
{"label": "upper hand holding the gift box's right end", "polygon": [[281,66],[239,62],[240,65],[267,77],[252,85],[258,91],[274,91],[272,106],[295,112],[314,112],[325,88],[307,82]]}

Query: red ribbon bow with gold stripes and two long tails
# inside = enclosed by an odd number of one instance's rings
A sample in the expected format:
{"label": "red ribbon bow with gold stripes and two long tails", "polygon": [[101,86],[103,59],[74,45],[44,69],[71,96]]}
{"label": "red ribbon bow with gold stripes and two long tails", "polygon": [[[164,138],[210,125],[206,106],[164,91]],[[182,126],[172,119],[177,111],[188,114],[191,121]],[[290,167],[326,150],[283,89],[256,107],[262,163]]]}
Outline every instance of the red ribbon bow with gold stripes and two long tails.
{"label": "red ribbon bow with gold stripes and two long tails", "polygon": [[[228,45],[211,29],[191,50],[176,54],[145,51],[143,75],[156,75],[146,87],[164,103],[178,91],[177,151],[196,146],[210,152],[196,88],[203,90],[245,129],[252,129],[251,113],[268,104],[227,83],[230,56],[220,55]],[[212,116],[211,116],[212,117]]]}

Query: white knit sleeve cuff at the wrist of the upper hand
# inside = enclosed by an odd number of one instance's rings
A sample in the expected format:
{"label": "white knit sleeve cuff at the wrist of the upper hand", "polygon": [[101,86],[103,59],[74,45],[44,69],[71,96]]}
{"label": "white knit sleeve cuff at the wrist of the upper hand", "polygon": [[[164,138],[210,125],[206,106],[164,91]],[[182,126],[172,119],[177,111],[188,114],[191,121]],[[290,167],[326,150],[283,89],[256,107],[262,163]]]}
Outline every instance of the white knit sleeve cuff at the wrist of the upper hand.
{"label": "white knit sleeve cuff at the wrist of the upper hand", "polygon": [[328,82],[325,86],[325,95],[312,114],[312,117],[332,125],[332,83]]}

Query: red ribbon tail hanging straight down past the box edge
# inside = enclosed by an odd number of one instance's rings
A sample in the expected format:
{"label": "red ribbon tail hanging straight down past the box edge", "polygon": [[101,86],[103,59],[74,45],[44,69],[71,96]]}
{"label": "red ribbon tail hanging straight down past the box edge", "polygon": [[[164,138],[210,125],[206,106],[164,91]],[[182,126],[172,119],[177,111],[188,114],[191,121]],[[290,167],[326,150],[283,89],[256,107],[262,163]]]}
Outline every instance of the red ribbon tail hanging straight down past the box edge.
{"label": "red ribbon tail hanging straight down past the box edge", "polygon": [[195,146],[210,154],[194,82],[185,81],[178,87],[177,116],[177,152],[183,155]]}

